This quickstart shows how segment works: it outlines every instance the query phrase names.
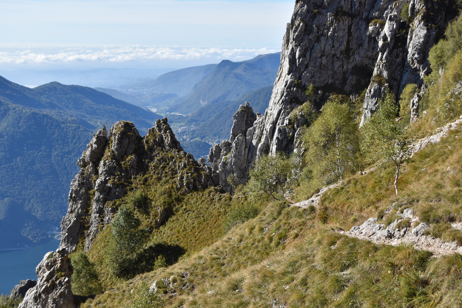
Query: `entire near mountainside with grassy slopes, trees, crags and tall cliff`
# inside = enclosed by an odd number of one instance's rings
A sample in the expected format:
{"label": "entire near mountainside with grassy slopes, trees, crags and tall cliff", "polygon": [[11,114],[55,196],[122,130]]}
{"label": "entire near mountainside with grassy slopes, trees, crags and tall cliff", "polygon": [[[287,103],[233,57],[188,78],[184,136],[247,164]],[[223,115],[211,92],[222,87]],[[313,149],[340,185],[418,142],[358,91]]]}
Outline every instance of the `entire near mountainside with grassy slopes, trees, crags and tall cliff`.
{"label": "entire near mountainside with grassy slopes, trees, crags and tall cliff", "polygon": [[210,166],[166,119],[99,130],[19,307],[459,307],[460,9],[296,1]]}

